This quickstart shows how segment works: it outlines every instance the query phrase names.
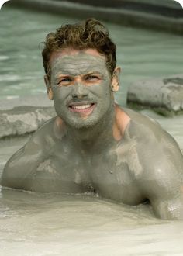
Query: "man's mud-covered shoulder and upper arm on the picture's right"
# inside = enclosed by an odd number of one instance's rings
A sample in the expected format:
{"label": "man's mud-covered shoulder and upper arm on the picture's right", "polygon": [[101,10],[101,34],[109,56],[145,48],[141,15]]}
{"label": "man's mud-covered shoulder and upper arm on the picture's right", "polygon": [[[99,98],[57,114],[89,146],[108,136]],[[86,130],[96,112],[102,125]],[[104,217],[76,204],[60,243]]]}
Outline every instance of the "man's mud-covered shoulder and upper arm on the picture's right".
{"label": "man's mud-covered shoulder and upper arm on the picture's right", "polygon": [[129,111],[126,130],[129,169],[143,199],[149,199],[156,216],[183,220],[183,155],[177,142],[161,126],[140,113]]}

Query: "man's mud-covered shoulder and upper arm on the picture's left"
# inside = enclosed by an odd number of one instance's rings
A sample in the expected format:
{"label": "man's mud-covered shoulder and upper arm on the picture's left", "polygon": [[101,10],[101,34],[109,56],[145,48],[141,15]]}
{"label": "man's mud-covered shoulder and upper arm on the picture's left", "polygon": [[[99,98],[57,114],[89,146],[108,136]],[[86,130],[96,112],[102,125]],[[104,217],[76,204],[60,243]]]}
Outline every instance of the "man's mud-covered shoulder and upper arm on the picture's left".
{"label": "man's mud-covered shoulder and upper arm on the picture's left", "polygon": [[29,189],[29,177],[33,176],[43,158],[50,154],[56,141],[57,118],[54,118],[40,126],[25,146],[9,158],[2,174],[2,185]]}

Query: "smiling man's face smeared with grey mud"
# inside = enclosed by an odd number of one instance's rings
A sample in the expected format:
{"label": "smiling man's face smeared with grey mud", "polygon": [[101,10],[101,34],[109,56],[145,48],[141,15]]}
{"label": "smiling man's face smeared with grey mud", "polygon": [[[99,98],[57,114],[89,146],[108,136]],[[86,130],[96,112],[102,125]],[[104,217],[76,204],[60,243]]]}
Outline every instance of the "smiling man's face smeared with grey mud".
{"label": "smiling man's face smeared with grey mud", "polygon": [[111,76],[97,50],[66,49],[50,59],[50,86],[57,115],[69,126],[94,126],[111,109]]}

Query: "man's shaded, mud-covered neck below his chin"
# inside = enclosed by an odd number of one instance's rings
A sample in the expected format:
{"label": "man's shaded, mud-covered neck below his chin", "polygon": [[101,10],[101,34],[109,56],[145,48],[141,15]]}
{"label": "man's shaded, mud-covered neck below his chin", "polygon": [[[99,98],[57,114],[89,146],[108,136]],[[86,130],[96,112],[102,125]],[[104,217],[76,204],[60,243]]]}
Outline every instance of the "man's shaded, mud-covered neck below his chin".
{"label": "man's shaded, mud-covered neck below his chin", "polygon": [[81,150],[104,150],[114,143],[113,123],[115,120],[115,107],[112,104],[105,116],[95,126],[74,129],[67,127],[67,134],[72,138],[73,143]]}

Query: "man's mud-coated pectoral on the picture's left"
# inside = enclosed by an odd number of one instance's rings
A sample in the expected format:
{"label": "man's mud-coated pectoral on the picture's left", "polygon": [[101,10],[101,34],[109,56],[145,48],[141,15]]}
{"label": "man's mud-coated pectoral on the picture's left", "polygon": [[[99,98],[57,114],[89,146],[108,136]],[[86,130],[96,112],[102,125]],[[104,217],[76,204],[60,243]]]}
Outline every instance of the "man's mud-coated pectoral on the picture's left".
{"label": "man's mud-coated pectoral on the picture's left", "polygon": [[[33,175],[34,190],[43,192],[92,192],[85,161],[78,153],[56,148],[40,159]],[[37,187],[39,186],[39,189]]]}

